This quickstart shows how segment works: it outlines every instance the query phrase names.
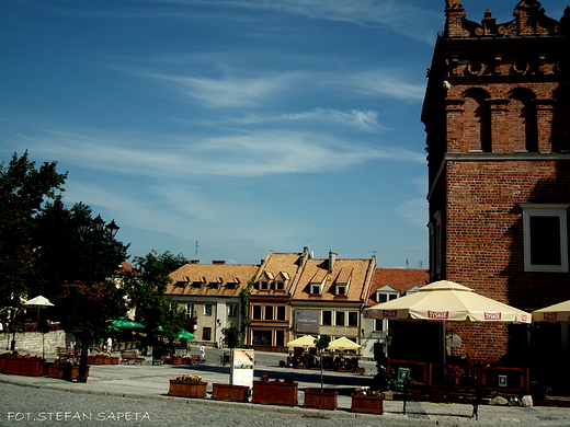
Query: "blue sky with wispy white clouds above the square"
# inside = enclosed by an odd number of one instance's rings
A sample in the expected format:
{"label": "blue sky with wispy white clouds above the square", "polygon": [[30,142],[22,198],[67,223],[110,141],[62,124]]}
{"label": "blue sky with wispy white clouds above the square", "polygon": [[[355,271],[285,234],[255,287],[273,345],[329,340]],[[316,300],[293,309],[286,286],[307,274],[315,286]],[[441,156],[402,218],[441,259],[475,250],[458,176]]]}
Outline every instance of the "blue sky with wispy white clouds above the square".
{"label": "blue sky with wispy white clouds above the square", "polygon": [[[517,1],[463,3],[502,23]],[[130,255],[428,268],[420,112],[444,8],[2,0],[0,160],[57,161],[65,203],[115,219]]]}

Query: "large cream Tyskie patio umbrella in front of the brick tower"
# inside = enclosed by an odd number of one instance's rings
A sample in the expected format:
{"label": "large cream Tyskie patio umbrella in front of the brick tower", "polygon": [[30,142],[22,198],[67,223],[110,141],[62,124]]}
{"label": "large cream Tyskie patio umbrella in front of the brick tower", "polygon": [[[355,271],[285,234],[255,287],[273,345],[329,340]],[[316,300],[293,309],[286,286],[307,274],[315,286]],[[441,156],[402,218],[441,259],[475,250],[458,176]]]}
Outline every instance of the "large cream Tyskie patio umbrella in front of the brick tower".
{"label": "large cream Tyskie patio umbrella in front of the brick tower", "polygon": [[[434,281],[418,292],[364,310],[368,319],[398,321],[531,323],[531,314],[449,280]],[[444,339],[445,345],[445,339]],[[444,350],[444,361],[445,361]]]}

